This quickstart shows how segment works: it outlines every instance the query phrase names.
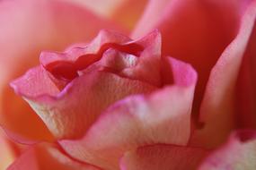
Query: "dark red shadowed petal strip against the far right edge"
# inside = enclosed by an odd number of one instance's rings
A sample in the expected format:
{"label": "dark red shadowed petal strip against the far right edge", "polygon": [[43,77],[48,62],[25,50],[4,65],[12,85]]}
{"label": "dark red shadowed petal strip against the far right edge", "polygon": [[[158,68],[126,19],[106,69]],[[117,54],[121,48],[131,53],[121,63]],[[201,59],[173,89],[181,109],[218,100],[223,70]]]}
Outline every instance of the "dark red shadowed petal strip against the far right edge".
{"label": "dark red shadowed petal strip against the far right edge", "polygon": [[243,55],[243,63],[238,75],[237,89],[235,90],[239,105],[240,126],[246,128],[256,128],[256,24],[252,30],[251,38]]}

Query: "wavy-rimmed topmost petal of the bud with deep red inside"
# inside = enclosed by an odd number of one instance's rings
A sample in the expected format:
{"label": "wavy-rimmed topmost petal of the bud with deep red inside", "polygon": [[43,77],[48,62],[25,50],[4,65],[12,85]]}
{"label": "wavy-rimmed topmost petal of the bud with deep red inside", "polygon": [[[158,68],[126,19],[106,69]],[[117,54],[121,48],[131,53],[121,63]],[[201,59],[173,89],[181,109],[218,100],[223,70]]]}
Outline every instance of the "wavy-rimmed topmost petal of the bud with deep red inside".
{"label": "wavy-rimmed topmost petal of the bud with deep red inside", "polygon": [[[136,41],[131,41],[128,37],[116,32],[101,30],[86,47],[69,48],[62,54],[43,52],[40,55],[40,63],[57,79],[71,81],[78,76],[77,72],[101,60],[110,48],[139,57],[137,65],[120,74],[131,79],[147,81],[155,86],[162,85],[159,74],[161,35],[157,30]],[[112,58],[113,56],[107,55],[106,57]]]}

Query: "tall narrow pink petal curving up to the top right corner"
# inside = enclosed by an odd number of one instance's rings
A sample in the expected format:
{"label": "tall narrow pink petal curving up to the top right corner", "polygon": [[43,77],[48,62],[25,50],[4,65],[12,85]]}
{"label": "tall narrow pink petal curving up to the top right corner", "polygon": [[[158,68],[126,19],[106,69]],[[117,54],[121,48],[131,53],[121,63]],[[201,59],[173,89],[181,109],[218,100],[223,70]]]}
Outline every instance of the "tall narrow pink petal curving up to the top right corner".
{"label": "tall narrow pink petal curving up to the top right corner", "polygon": [[[195,145],[215,147],[225,140],[229,132],[240,121],[235,119],[235,112],[242,106],[241,103],[235,105],[234,98],[237,98],[235,96],[235,85],[240,66],[243,63],[243,57],[248,54],[246,51],[250,45],[250,38],[253,38],[252,30],[255,27],[255,18],[256,2],[254,1],[254,3],[248,5],[247,11],[243,15],[241,28],[237,37],[225,49],[210,74],[199,117],[199,121],[205,125],[201,130],[197,130],[193,134],[191,143]],[[255,42],[255,39],[251,41]],[[255,44],[252,45],[252,42],[251,46],[255,47]],[[253,55],[253,53],[250,55]],[[240,93],[239,90],[237,92]],[[248,102],[253,101],[249,98],[246,99]],[[246,106],[249,106],[247,101]],[[239,116],[246,117],[249,113],[250,111],[242,110]],[[255,117],[255,112],[253,113],[252,111],[252,114]]]}

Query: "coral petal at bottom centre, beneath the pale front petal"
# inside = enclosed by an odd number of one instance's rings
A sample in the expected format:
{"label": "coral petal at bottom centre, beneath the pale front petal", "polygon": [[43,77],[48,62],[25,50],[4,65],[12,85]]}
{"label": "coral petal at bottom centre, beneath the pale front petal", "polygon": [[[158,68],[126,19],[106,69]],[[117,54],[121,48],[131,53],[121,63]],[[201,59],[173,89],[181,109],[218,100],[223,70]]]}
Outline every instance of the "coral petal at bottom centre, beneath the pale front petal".
{"label": "coral petal at bottom centre, beneath the pale front petal", "polygon": [[121,170],[197,169],[207,156],[204,149],[156,144],[128,151],[120,159]]}

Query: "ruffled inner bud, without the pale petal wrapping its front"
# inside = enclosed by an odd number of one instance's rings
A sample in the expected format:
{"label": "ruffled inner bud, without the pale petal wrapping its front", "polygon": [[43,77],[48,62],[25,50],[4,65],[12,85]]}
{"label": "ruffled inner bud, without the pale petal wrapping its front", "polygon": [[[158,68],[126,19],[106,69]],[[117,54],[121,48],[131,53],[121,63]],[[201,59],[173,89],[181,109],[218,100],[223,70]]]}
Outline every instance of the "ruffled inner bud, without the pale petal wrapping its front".
{"label": "ruffled inner bud, without the pale petal wrapping its front", "polygon": [[160,51],[157,31],[131,41],[102,30],[86,47],[43,53],[11,85],[57,139],[80,138],[110,104],[162,86]]}

